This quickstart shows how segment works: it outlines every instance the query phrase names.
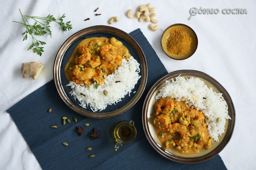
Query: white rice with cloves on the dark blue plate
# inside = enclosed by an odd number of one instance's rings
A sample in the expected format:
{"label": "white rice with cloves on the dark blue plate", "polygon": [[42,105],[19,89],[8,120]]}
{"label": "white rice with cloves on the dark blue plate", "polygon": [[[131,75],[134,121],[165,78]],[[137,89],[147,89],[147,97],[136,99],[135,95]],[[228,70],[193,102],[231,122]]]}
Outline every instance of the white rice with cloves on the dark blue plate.
{"label": "white rice with cloves on the dark blue plate", "polygon": [[[122,101],[125,95],[128,94],[130,96],[135,84],[141,78],[139,65],[131,56],[127,61],[123,59],[120,67],[105,77],[104,84],[100,84],[97,88],[93,88],[96,82],[87,86],[70,81],[67,86],[71,87],[71,96],[75,100],[77,99],[83,108],[90,106],[93,112],[102,111],[107,105]],[[120,82],[116,83],[116,81]],[[104,90],[108,92],[107,96],[103,94]],[[85,96],[81,95],[81,93]]]}

